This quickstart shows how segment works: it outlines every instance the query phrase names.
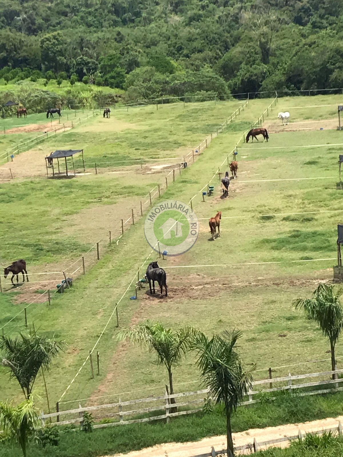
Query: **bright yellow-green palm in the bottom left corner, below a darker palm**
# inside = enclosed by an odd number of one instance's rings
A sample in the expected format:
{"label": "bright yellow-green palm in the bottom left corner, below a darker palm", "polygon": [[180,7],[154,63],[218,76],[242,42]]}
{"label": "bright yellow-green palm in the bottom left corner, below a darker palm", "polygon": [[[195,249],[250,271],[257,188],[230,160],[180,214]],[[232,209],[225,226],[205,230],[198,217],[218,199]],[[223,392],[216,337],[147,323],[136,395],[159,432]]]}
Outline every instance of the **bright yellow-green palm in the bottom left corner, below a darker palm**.
{"label": "bright yellow-green palm in the bottom left corner, below a darker palm", "polygon": [[18,406],[0,402],[0,428],[3,436],[18,443],[24,457],[27,456],[28,440],[41,427],[39,410],[35,408],[32,397]]}

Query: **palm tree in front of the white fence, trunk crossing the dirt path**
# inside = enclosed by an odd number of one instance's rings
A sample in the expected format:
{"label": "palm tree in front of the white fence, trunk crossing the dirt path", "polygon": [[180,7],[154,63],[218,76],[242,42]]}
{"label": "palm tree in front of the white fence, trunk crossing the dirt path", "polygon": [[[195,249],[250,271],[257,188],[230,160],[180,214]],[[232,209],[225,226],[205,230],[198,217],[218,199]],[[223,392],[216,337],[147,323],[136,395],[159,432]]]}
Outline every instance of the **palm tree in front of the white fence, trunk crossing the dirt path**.
{"label": "palm tree in front of the white fence, trunk crossing the dirt path", "polygon": [[240,337],[239,330],[226,330],[222,335],[213,335],[210,340],[199,333],[191,344],[191,349],[198,351],[197,364],[205,386],[209,387],[209,393],[216,403],[224,405],[228,456],[234,453],[231,416],[251,387],[254,369],[252,367],[250,371],[244,371],[242,368],[241,358],[236,352]]}

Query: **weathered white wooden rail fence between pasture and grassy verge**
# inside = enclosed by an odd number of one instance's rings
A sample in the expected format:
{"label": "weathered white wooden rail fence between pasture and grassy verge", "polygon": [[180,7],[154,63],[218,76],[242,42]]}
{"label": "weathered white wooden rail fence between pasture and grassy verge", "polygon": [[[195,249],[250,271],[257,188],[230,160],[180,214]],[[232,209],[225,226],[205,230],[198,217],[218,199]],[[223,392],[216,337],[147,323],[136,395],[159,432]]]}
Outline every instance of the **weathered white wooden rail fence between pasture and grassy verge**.
{"label": "weathered white wooden rail fence between pasture and grassy verge", "polygon": [[[253,381],[253,390],[249,390],[246,400],[242,402],[241,405],[249,405],[259,402],[260,399],[254,397],[261,393],[273,393],[288,390],[290,392],[298,391],[298,395],[304,396],[341,391],[343,390],[343,387],[340,387],[340,383],[343,382],[343,378],[338,378],[338,375],[342,373],[343,370],[307,373],[300,375],[291,375],[289,373],[288,376],[284,377],[276,377],[272,379],[268,378],[259,381]],[[332,375],[335,375],[335,379],[328,378],[332,377]],[[314,380],[309,382],[309,379]],[[306,380],[306,382],[304,383],[302,382],[302,380]],[[297,381],[298,383],[294,383],[294,381]],[[264,384],[269,384],[269,388],[259,389],[259,386],[263,386]],[[278,385],[275,387],[275,384]],[[317,386],[322,386],[323,388],[316,390],[301,390]],[[275,397],[271,397],[270,399],[274,398]],[[171,403],[171,399],[175,399],[176,403]],[[96,424],[94,425],[94,428],[102,428],[115,425],[137,424],[140,422],[150,422],[151,420],[161,419],[165,419],[168,423],[171,417],[181,416],[184,414],[193,414],[198,411],[201,411],[204,403],[206,403],[208,399],[208,388],[192,392],[174,393],[172,395],[168,395],[166,391],[164,395],[144,399],[121,401],[119,398],[119,401],[117,403],[101,404],[86,407],[82,407],[81,405],[79,405],[79,408],[76,409],[68,409],[65,411],[57,410],[56,413],[42,414],[41,418],[44,424],[46,420],[49,420],[49,422],[51,420],[56,420],[56,425],[82,423],[83,413],[87,411],[91,412],[93,414],[94,419],[96,420],[108,418],[113,420],[113,422],[107,424]],[[199,405],[201,406],[199,407]],[[141,406],[145,407],[142,408]],[[179,409],[185,409],[179,410],[178,412],[174,412],[173,408],[175,407]],[[150,413],[156,413],[156,415],[150,415]],[[146,417],[147,415],[148,417]],[[61,420],[61,418],[63,420]]]}

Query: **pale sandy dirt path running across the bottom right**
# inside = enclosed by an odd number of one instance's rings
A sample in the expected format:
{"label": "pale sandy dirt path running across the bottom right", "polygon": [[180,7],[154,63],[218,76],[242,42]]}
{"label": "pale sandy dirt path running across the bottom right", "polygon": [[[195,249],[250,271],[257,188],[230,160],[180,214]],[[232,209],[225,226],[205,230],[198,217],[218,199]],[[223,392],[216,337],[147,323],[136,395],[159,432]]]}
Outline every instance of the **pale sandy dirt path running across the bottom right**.
{"label": "pale sandy dirt path running across the bottom right", "polygon": [[[257,443],[262,443],[276,438],[283,438],[284,436],[298,435],[299,429],[304,434],[310,431],[338,427],[338,421],[343,421],[343,416],[313,420],[312,422],[300,424],[279,425],[278,427],[266,427],[264,429],[250,429],[234,433],[233,440],[235,446],[242,446],[248,443],[252,444],[254,438],[256,438]],[[158,444],[153,447],[142,449],[141,451],[129,452],[128,454],[113,454],[111,457],[193,457],[211,452],[212,446],[216,451],[221,451],[226,448],[225,442],[225,435],[211,436],[210,438],[188,443]],[[287,442],[280,444],[287,446]],[[250,454],[250,451],[246,450],[245,453]]]}

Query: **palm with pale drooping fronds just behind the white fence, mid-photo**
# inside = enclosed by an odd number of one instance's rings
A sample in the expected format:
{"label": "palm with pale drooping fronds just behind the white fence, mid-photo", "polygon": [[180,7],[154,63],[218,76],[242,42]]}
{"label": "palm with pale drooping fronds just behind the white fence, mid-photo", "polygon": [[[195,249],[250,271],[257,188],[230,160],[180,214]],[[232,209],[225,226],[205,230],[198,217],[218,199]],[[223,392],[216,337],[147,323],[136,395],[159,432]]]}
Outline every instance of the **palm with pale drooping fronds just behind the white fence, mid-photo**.
{"label": "palm with pale drooping fronds just behind the white fence, mid-photo", "polygon": [[[169,393],[174,393],[172,367],[178,365],[182,355],[185,355],[191,337],[196,335],[198,330],[193,327],[182,327],[178,330],[166,329],[160,322],[139,324],[130,329],[124,329],[117,337],[118,340],[128,339],[133,343],[141,343],[148,346],[149,351],[155,351],[157,364],[166,366],[169,377]],[[175,398],[170,399],[175,404]],[[176,412],[176,408],[171,413]]]}

